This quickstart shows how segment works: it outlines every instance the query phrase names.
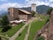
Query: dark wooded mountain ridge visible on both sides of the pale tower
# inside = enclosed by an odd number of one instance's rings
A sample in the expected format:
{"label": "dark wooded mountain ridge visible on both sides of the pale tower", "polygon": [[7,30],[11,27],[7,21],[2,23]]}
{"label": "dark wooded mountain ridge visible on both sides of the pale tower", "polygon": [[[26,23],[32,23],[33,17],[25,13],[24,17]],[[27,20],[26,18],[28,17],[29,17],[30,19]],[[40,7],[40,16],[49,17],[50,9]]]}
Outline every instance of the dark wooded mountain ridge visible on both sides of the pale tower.
{"label": "dark wooded mountain ridge visible on both sides of the pale tower", "polygon": [[[39,14],[45,14],[49,8],[51,8],[51,7],[46,6],[46,5],[40,5],[40,6],[37,6],[37,7],[36,7],[36,11],[37,11]],[[29,11],[29,12],[31,11],[31,7],[19,8],[19,9],[24,9],[24,10],[27,10],[27,11]]]}

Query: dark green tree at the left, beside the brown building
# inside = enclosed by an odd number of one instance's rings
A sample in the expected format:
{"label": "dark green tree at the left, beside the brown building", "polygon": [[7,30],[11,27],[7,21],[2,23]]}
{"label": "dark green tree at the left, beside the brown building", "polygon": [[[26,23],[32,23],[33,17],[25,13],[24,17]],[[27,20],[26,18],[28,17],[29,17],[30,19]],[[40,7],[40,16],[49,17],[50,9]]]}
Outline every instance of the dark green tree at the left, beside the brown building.
{"label": "dark green tree at the left, beside the brown building", "polygon": [[0,21],[0,25],[3,28],[2,32],[5,32],[11,28],[7,15],[4,15],[2,17],[2,20]]}

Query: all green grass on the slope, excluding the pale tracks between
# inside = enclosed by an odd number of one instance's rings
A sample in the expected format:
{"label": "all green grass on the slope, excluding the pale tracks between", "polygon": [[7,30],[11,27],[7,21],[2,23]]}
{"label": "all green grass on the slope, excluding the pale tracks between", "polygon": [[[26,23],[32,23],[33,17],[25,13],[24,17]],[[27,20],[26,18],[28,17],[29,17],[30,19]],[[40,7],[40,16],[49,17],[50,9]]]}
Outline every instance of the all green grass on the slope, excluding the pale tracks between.
{"label": "all green grass on the slope, excluding the pale tracks between", "polygon": [[[38,20],[34,20],[31,23],[31,29],[30,29],[30,34],[28,37],[28,40],[33,40],[35,33],[40,30],[45,24],[46,21],[48,20],[48,16],[44,16],[44,15],[37,15],[37,18],[40,17],[41,19],[43,19],[42,21]],[[2,35],[8,35],[9,37],[13,36],[24,24],[21,23],[15,27],[12,27],[10,30],[8,30],[5,33],[2,33],[1,30],[2,28],[0,28],[0,34]],[[27,33],[27,29],[28,29],[28,25],[27,27],[22,31],[22,33],[20,33],[19,37],[16,38],[16,40],[24,40],[25,38],[25,34]]]}

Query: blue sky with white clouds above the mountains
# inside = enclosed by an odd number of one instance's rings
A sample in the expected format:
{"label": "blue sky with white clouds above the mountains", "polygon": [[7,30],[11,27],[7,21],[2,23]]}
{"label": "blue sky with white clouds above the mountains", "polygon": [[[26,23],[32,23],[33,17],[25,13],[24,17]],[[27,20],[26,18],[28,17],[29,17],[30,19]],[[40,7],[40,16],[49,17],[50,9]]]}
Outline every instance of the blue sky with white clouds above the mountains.
{"label": "blue sky with white clouds above the mountains", "polygon": [[32,3],[35,3],[36,6],[46,5],[53,7],[53,0],[0,0],[0,11],[9,7],[29,7]]}

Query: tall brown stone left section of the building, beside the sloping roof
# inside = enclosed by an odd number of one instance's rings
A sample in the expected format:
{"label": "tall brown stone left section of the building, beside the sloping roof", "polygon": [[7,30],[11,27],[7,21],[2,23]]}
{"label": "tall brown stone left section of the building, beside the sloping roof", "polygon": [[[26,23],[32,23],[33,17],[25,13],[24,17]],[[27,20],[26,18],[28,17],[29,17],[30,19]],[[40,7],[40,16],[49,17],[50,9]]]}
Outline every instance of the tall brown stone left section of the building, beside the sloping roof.
{"label": "tall brown stone left section of the building, beside the sloping roof", "polygon": [[8,9],[8,17],[9,17],[9,20],[14,20],[15,18],[18,18],[18,9],[9,8]]}

